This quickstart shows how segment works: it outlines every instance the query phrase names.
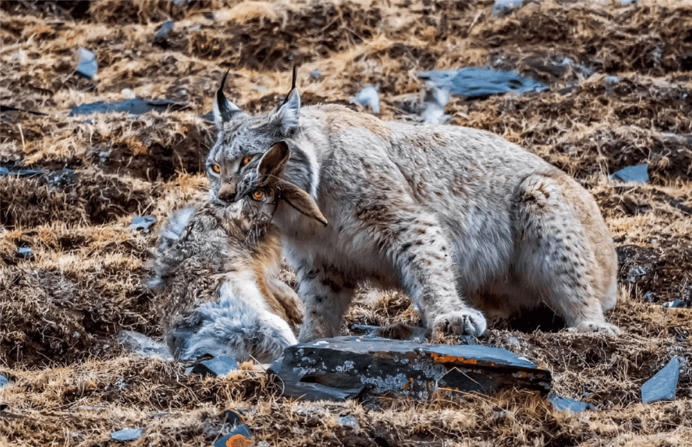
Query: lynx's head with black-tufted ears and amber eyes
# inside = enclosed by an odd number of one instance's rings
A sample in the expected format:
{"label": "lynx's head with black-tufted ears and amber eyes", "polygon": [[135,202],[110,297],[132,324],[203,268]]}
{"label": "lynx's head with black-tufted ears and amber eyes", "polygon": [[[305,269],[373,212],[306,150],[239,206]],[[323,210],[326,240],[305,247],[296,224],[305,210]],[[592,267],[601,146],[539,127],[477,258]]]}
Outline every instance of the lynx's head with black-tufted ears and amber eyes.
{"label": "lynx's head with black-tufted ears and amber eyes", "polygon": [[291,161],[282,170],[282,177],[305,191],[315,190],[316,175],[309,155],[294,140],[300,133],[300,94],[295,88],[295,69],[293,73],[294,86],[286,99],[273,111],[256,116],[244,113],[226,99],[223,88],[228,72],[221,79],[214,100],[217,141],[207,158],[212,200],[237,200],[240,181],[257,167],[268,148],[280,141],[291,144]]}

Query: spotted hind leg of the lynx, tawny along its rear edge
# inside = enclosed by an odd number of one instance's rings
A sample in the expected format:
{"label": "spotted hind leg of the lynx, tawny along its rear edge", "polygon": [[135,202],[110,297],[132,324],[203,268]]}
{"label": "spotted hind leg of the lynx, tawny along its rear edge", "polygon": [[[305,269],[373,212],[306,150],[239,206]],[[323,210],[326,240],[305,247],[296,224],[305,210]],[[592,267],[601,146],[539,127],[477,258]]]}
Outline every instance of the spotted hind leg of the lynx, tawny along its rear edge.
{"label": "spotted hind leg of the lynx, tawny along its rear edge", "polygon": [[589,193],[565,173],[534,174],[520,184],[517,200],[514,268],[522,285],[568,327],[617,334],[602,305],[612,301],[617,257]]}

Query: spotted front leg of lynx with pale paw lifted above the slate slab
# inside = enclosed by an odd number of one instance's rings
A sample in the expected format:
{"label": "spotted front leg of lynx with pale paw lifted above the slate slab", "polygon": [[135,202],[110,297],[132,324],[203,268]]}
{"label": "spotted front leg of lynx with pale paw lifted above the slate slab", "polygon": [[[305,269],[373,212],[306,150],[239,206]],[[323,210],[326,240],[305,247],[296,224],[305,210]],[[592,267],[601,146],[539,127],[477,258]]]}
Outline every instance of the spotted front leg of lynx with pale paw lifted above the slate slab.
{"label": "spotted front leg of lynx with pale paw lifted above the slate slab", "polygon": [[398,222],[389,232],[397,235],[391,256],[425,325],[446,334],[483,334],[485,317],[464,303],[456,290],[451,245],[437,218],[410,213]]}

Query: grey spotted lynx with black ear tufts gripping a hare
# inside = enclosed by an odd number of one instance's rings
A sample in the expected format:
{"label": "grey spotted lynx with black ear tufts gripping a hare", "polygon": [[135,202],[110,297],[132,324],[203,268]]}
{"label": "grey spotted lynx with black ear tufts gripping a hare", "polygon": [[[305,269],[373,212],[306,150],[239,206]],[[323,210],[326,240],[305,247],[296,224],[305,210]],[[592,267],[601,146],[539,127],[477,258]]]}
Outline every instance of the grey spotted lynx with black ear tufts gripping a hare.
{"label": "grey spotted lynx with black ear tufts gripping a hare", "polygon": [[217,92],[207,166],[215,200],[235,200],[266,148],[286,140],[282,177],[326,227],[285,204],[274,223],[306,305],[300,341],[338,333],[358,283],[399,287],[433,330],[478,336],[488,316],[545,303],[569,327],[616,333],[617,256],[592,196],[498,135],[383,122],[335,104],[248,115]]}

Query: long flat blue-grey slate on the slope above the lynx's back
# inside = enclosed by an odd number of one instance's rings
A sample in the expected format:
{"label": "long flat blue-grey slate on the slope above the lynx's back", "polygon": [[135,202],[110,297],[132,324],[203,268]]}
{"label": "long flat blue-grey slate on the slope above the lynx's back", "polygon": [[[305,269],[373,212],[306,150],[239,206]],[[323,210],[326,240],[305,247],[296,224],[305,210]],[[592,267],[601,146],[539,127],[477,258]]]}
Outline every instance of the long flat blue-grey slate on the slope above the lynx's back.
{"label": "long flat blue-grey slate on the slope above the lynx's back", "polygon": [[485,98],[502,93],[544,92],[549,88],[542,82],[522,77],[508,71],[491,70],[489,68],[466,67],[459,70],[431,70],[418,74],[424,79],[444,88],[450,93],[468,99]]}

